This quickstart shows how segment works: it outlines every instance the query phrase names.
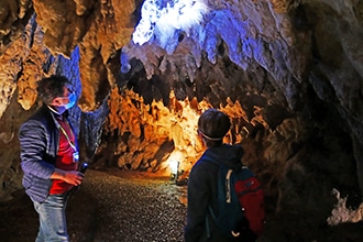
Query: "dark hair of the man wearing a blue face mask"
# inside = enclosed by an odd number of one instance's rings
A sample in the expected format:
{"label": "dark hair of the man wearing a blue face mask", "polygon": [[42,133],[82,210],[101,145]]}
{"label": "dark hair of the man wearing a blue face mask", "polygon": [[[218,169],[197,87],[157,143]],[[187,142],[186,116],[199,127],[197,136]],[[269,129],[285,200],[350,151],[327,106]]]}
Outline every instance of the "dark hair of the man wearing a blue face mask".
{"label": "dark hair of the man wearing a blue face mask", "polygon": [[68,78],[52,75],[37,81],[37,95],[45,105],[50,105],[54,98],[63,96],[64,87],[67,85],[72,85]]}

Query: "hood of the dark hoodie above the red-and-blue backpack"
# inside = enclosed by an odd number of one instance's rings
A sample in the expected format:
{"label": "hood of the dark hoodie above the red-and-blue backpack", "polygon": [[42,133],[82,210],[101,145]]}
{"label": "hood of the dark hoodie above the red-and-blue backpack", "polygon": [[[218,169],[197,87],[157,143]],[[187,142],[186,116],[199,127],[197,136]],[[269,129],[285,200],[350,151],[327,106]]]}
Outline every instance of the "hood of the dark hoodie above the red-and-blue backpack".
{"label": "hood of the dark hoodie above the red-and-blue backpack", "polygon": [[209,147],[204,153],[202,157],[221,162],[232,169],[239,169],[242,166],[243,154],[244,152],[241,145],[223,144],[217,147]]}

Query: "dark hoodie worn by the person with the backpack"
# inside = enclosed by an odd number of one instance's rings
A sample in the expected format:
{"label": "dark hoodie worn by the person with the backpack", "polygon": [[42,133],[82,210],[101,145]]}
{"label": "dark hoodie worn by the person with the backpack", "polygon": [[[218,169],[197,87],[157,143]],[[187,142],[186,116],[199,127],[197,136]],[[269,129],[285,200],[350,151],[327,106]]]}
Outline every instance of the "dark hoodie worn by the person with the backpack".
{"label": "dark hoodie worn by the person with the backpack", "polygon": [[187,226],[184,238],[186,242],[200,241],[230,241],[219,234],[218,229],[210,219],[211,237],[207,239],[206,218],[208,206],[217,209],[217,182],[219,166],[207,157],[224,163],[232,169],[240,169],[242,166],[243,148],[241,145],[223,144],[209,147],[193,166],[188,179],[188,208]]}

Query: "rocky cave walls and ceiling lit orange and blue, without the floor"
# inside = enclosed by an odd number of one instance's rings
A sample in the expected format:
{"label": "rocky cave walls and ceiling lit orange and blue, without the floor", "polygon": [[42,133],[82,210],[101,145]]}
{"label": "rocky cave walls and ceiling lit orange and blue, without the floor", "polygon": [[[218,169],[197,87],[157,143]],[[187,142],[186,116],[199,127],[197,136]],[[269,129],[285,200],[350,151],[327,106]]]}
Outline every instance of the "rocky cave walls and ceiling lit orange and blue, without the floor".
{"label": "rocky cave walls and ceiling lit orange and blue, without the floor", "polygon": [[187,175],[202,152],[197,117],[216,107],[263,180],[267,224],[284,228],[267,233],[319,238],[334,188],[359,206],[362,1],[210,0],[200,24],[140,46],[141,3],[0,2],[1,200],[21,188],[16,134],[40,105],[35,82],[58,73],[79,87],[72,114],[96,167],[168,172],[179,158]]}

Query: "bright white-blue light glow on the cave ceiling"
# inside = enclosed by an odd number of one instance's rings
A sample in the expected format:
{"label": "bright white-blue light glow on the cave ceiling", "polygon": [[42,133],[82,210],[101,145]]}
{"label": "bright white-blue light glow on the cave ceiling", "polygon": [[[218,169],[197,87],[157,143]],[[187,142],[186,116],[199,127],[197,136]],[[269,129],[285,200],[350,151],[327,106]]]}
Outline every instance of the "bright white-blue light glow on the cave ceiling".
{"label": "bright white-blue light glow on the cave ceiling", "polygon": [[177,30],[188,34],[193,25],[201,23],[207,12],[204,0],[145,0],[132,41],[142,45],[156,35],[165,43]]}

